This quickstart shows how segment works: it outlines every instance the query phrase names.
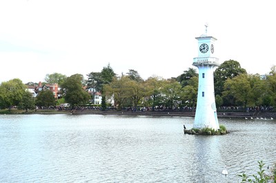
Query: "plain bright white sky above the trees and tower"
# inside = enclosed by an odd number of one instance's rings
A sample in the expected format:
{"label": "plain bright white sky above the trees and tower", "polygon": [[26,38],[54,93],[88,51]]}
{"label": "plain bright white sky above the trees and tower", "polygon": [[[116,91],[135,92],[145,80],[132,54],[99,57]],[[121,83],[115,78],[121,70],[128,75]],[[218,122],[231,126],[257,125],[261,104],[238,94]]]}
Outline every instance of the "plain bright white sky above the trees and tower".
{"label": "plain bright white sky above the trees and tower", "polygon": [[110,67],[177,77],[197,57],[197,39],[214,36],[219,62],[238,61],[249,74],[276,65],[271,0],[1,0],[0,83],[44,81]]}

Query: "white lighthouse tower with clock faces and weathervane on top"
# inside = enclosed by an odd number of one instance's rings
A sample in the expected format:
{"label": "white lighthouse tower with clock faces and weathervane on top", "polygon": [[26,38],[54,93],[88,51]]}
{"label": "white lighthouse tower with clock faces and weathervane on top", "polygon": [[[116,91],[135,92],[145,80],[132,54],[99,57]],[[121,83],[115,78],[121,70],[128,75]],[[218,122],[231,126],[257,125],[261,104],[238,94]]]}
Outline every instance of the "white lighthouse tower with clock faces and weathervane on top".
{"label": "white lighthouse tower with clock faces and weathervane on top", "polygon": [[197,91],[197,110],[195,112],[195,129],[219,129],[217,108],[215,105],[214,76],[215,68],[219,66],[219,59],[215,57],[215,39],[213,36],[202,34],[196,37],[198,41],[198,56],[193,65],[199,69],[199,84]]}

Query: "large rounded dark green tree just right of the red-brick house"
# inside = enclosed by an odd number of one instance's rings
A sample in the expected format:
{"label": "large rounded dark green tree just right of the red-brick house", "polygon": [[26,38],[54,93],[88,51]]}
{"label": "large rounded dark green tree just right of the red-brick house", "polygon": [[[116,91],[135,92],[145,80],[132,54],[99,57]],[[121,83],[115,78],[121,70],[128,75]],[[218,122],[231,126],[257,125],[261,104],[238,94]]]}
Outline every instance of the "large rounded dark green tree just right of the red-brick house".
{"label": "large rounded dark green tree just right of the red-brick house", "polygon": [[91,99],[88,92],[83,89],[83,76],[81,74],[72,75],[61,84],[63,96],[70,106],[85,105]]}

